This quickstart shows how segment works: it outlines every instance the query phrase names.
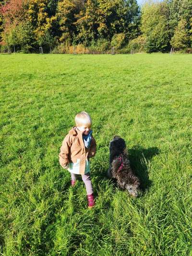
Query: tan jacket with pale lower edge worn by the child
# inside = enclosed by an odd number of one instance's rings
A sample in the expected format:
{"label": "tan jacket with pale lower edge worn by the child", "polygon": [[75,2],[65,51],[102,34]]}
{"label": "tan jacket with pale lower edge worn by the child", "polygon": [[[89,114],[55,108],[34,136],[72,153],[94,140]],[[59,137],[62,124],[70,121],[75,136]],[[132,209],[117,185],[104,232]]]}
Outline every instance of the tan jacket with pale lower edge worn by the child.
{"label": "tan jacket with pale lower edge worn by the child", "polygon": [[84,146],[82,132],[73,127],[62,142],[60,147],[60,165],[62,168],[69,165],[71,172],[76,174],[86,173],[89,168],[89,158],[96,154],[96,140],[92,136],[89,148]]}

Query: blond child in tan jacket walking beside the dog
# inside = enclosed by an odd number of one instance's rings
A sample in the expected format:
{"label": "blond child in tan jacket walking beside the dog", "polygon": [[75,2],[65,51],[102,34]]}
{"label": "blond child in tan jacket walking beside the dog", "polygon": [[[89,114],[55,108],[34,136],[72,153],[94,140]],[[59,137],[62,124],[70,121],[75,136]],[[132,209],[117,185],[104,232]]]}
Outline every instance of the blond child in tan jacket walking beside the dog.
{"label": "blond child in tan jacket walking beside the dog", "polygon": [[92,120],[87,112],[75,116],[74,126],[62,142],[60,148],[60,165],[71,172],[71,184],[75,185],[76,179],[81,174],[85,184],[88,207],[95,205],[93,186],[90,177],[89,158],[96,154],[96,141],[92,136]]}

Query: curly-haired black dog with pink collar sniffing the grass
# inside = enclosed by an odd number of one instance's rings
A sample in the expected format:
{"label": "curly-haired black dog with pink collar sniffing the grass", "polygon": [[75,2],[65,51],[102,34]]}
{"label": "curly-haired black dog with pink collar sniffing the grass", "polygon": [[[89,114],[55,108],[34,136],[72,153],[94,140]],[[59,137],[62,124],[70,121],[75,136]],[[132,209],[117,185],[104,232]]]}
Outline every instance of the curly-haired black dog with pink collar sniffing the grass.
{"label": "curly-haired black dog with pink collar sniffing the grass", "polygon": [[120,188],[128,190],[131,195],[136,197],[140,181],[130,167],[124,139],[115,136],[110,141],[109,150],[108,177],[116,179]]}

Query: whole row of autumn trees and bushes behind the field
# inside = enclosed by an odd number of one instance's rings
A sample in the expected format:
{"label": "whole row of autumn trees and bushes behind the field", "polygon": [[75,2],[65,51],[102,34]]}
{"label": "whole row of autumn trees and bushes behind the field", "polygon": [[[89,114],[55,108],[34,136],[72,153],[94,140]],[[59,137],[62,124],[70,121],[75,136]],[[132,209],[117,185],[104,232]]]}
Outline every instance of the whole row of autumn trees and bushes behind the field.
{"label": "whole row of autumn trees and bushes behind the field", "polygon": [[192,0],[0,0],[0,49],[192,52]]}

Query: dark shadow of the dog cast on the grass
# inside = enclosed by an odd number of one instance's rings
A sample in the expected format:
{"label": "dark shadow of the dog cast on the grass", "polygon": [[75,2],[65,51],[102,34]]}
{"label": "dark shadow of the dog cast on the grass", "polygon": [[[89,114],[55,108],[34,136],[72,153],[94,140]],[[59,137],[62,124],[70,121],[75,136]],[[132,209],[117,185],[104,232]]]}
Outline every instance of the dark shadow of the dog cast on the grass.
{"label": "dark shadow of the dog cast on the grass", "polygon": [[152,181],[149,179],[148,162],[160,151],[157,147],[142,148],[137,145],[128,149],[128,153],[132,170],[140,179],[140,188],[144,193],[152,185]]}

